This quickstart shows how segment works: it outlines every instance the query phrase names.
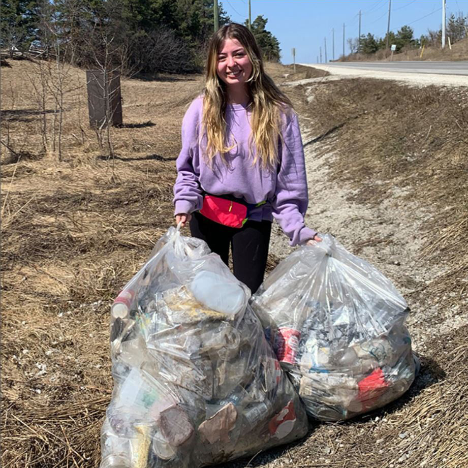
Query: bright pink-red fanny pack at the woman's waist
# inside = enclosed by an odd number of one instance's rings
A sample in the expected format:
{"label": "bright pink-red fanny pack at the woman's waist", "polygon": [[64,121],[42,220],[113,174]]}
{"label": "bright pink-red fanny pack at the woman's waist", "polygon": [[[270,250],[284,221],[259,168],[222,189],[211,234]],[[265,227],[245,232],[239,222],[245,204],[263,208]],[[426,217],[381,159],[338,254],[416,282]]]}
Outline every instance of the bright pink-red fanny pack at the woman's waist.
{"label": "bright pink-red fanny pack at the woman's waist", "polygon": [[206,194],[203,197],[203,206],[200,214],[203,214],[203,216],[215,223],[229,226],[230,228],[241,228],[248,220],[248,215],[252,209],[265,203],[252,204],[227,195],[220,197]]}

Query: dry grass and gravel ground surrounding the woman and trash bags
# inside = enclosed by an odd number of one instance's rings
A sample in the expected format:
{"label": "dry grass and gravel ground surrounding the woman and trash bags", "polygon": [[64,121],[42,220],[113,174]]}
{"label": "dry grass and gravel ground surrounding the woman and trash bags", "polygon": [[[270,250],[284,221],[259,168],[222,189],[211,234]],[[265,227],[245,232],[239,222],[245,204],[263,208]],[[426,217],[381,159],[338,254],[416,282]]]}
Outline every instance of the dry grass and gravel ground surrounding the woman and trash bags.
{"label": "dry grass and gravel ground surrounding the woman and trash bags", "polygon": [[[268,71],[277,83],[314,76]],[[173,222],[180,123],[203,87],[201,76],[123,80],[110,158],[87,125],[84,72],[66,81],[59,160],[37,66],[2,67],[4,468],[99,466],[109,306]],[[224,466],[468,466],[468,92],[372,79],[283,89],[302,126],[307,223],[393,280],[422,369],[382,410],[311,422],[298,443]],[[288,252],[276,227],[269,269]]]}

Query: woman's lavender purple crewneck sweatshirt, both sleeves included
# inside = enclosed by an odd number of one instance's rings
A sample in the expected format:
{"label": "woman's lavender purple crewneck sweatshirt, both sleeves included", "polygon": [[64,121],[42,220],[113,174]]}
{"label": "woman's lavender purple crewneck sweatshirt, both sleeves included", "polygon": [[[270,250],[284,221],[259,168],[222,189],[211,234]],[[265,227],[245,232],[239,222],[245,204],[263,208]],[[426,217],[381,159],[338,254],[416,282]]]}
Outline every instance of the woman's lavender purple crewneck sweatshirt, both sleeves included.
{"label": "woman's lavender purple crewneck sweatshirt, both sleeves included", "polygon": [[206,164],[203,148],[206,136],[200,139],[203,97],[190,105],[182,121],[182,149],[177,158],[177,179],[174,185],[175,214],[201,209],[203,191],[212,195],[230,194],[247,203],[266,204],[255,208],[248,219],[273,221],[273,216],[290,238],[291,245],[301,244],[317,233],[304,225],[307,210],[307,180],[299,122],[294,112],[284,114],[283,143],[278,142],[277,170],[253,165],[249,154],[251,113],[241,104],[229,104],[226,110],[228,141],[236,146],[225,154],[227,165],[219,155],[212,168]]}

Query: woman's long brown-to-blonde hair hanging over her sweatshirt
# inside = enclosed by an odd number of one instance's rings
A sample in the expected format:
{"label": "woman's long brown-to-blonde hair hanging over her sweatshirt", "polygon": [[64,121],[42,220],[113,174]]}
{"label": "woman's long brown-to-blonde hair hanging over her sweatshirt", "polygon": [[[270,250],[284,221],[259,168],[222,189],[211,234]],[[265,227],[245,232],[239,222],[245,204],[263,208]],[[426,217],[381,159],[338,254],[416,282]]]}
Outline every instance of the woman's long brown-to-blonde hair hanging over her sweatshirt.
{"label": "woman's long brown-to-blonde hair hanging over her sweatshirt", "polygon": [[[206,135],[206,158],[212,163],[217,152],[225,161],[224,154],[235,143],[227,141],[226,108],[228,105],[227,86],[216,73],[218,54],[226,39],[236,39],[245,49],[252,63],[252,75],[248,78],[249,104],[252,112],[250,135],[253,164],[260,161],[264,168],[274,168],[278,162],[278,138],[282,138],[282,113],[292,109],[290,99],[280,91],[265,73],[262,53],[248,28],[230,23],[214,33],[211,38],[206,63],[206,86],[203,99],[202,127]],[[253,151],[255,146],[256,151]]]}

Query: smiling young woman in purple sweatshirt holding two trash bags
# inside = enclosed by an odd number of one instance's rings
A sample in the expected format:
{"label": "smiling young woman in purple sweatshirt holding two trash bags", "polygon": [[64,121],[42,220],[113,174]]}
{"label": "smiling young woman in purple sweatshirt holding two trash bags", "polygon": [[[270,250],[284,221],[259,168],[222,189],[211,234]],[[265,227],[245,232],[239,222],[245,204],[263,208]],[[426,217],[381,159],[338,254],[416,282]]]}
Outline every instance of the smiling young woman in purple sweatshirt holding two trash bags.
{"label": "smiling young woman in purple sweatshirt holding two trash bags", "polygon": [[240,24],[212,37],[206,87],[182,121],[174,185],[176,222],[208,243],[255,293],[263,282],[273,217],[291,245],[320,241],[304,225],[307,182],[297,115],[265,73]]}

